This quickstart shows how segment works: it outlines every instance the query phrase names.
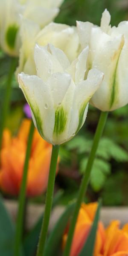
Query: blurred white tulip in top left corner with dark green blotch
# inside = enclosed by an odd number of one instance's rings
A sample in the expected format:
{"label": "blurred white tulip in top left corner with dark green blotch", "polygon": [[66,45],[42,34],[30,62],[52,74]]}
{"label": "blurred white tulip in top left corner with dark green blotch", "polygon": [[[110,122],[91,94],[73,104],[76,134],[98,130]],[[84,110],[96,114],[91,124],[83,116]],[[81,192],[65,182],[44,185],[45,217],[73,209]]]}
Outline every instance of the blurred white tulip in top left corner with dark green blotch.
{"label": "blurred white tulip in top left corner with dark green blotch", "polygon": [[18,56],[21,47],[22,15],[42,29],[58,15],[63,0],[0,0],[0,47]]}

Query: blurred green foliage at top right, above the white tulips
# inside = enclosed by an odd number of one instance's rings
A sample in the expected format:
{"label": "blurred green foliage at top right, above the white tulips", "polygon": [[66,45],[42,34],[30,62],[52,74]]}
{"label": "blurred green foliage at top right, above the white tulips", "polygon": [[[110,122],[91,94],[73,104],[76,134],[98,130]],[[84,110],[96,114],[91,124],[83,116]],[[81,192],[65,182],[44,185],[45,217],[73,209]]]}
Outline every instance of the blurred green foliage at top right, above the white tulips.
{"label": "blurred green foliage at top right, above the white tulips", "polygon": [[76,20],[81,20],[99,25],[105,8],[111,13],[112,26],[128,20],[127,0],[65,0],[55,21],[76,25]]}

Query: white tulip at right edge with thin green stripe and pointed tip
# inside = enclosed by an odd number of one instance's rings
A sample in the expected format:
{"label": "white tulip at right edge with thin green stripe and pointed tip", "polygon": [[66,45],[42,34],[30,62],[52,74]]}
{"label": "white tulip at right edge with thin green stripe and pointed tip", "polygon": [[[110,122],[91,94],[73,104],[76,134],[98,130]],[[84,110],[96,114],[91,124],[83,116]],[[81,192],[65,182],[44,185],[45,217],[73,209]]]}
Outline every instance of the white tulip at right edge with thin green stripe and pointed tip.
{"label": "white tulip at right edge with thin green stripe and pointed tip", "polygon": [[104,73],[102,85],[90,101],[101,111],[113,111],[128,104],[128,21],[111,28],[110,20],[105,9],[100,27],[77,22],[81,47],[90,48],[88,70],[97,68]]}

